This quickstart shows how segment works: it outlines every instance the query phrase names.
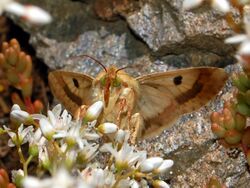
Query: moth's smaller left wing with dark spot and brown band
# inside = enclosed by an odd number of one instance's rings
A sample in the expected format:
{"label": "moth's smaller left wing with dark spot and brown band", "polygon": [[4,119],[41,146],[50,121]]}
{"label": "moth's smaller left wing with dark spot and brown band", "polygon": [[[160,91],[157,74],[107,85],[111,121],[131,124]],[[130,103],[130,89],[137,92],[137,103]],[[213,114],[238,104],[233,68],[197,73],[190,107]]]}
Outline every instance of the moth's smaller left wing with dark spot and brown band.
{"label": "moth's smaller left wing with dark spot and brown band", "polygon": [[49,84],[53,95],[74,114],[82,105],[91,103],[93,78],[82,73],[53,71]]}

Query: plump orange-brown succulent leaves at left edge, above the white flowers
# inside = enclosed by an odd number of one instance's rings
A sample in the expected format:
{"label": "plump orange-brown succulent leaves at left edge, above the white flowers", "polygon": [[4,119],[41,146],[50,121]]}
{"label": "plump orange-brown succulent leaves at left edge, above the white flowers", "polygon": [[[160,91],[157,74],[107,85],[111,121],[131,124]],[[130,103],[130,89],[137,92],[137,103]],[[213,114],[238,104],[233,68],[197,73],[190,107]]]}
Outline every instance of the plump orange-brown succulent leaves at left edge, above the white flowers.
{"label": "plump orange-brown succulent leaves at left edge, above the white flowers", "polygon": [[[43,104],[39,100],[35,100],[33,103],[31,101],[33,85],[31,75],[32,60],[29,55],[21,51],[16,39],[12,39],[9,43],[4,42],[2,44],[0,69],[2,69],[4,75],[2,83],[5,83],[1,84],[0,82],[2,90],[8,90],[8,86],[11,85],[19,89],[22,93],[22,97],[17,93],[12,93],[13,103],[19,104],[22,109],[30,113],[40,112],[43,108]],[[4,102],[4,100],[2,101]]]}

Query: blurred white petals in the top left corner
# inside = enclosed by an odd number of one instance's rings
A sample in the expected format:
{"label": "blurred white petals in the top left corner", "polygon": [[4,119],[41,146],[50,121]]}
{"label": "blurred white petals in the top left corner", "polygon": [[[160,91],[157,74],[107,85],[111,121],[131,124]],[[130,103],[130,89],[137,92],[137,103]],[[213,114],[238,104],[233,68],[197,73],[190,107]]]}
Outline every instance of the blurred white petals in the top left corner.
{"label": "blurred white petals in the top left corner", "polygon": [[4,1],[8,2],[5,3],[5,11],[20,16],[32,24],[48,24],[52,21],[50,14],[37,6],[24,6],[15,1]]}

